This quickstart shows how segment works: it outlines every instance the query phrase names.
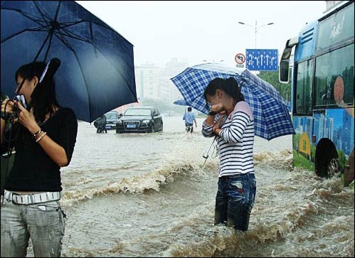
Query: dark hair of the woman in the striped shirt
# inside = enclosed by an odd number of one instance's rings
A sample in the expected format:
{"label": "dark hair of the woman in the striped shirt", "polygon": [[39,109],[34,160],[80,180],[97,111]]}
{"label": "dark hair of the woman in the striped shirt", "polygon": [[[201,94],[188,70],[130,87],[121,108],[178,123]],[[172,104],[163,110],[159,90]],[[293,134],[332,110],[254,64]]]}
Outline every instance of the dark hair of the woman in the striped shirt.
{"label": "dark hair of the woman in the striped shirt", "polygon": [[216,78],[211,80],[211,82],[208,83],[205,92],[203,93],[203,96],[205,97],[206,100],[207,110],[208,110],[207,95],[208,96],[216,95],[217,89],[223,90],[223,92],[226,92],[228,96],[233,97],[233,99],[236,100],[237,102],[244,101],[244,96],[242,92],[240,92],[238,82],[233,77],[229,77],[228,79]]}

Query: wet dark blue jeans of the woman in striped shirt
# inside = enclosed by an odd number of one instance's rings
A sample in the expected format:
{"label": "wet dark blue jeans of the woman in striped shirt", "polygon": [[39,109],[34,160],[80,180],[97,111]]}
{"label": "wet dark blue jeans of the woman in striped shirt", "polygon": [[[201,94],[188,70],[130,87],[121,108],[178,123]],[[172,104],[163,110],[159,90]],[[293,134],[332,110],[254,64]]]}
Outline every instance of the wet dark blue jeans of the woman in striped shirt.
{"label": "wet dark blue jeans of the woman in striped shirt", "polygon": [[235,230],[248,230],[255,193],[256,181],[253,173],[219,178],[214,225],[223,223]]}

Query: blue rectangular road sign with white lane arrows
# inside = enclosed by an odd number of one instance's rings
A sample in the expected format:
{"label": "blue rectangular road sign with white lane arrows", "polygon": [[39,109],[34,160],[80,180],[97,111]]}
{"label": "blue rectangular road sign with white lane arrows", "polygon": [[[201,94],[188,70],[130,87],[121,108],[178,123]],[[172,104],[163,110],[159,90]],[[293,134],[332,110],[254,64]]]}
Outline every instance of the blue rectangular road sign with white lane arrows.
{"label": "blue rectangular road sign with white lane arrows", "polygon": [[277,71],[277,49],[246,49],[246,68],[251,71]]}

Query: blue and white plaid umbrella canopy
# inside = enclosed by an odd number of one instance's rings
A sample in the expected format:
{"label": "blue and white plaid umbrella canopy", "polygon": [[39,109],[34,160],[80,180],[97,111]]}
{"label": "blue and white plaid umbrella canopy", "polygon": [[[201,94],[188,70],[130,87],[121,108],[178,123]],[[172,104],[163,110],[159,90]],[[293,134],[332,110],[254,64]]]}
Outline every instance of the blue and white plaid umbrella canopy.
{"label": "blue and white plaid umbrella canopy", "polygon": [[270,140],[295,134],[287,106],[275,88],[253,75],[249,70],[205,63],[187,68],[171,78],[186,104],[207,114],[203,92],[208,83],[217,78],[234,77],[254,114],[255,135]]}

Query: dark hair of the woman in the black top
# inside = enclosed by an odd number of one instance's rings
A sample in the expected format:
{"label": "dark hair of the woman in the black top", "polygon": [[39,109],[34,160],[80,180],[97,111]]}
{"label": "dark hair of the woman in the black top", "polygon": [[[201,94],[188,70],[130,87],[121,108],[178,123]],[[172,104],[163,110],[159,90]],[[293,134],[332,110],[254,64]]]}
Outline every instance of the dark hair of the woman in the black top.
{"label": "dark hair of the woman in the black top", "polygon": [[35,62],[22,65],[15,74],[15,80],[20,76],[26,80],[32,80],[33,77],[38,77],[38,85],[32,92],[31,102],[29,107],[33,107],[33,114],[37,122],[43,122],[46,114],[52,116],[55,113],[55,107],[60,107],[55,97],[55,83],[53,77],[46,77],[39,83],[43,70],[46,68],[46,63]]}

